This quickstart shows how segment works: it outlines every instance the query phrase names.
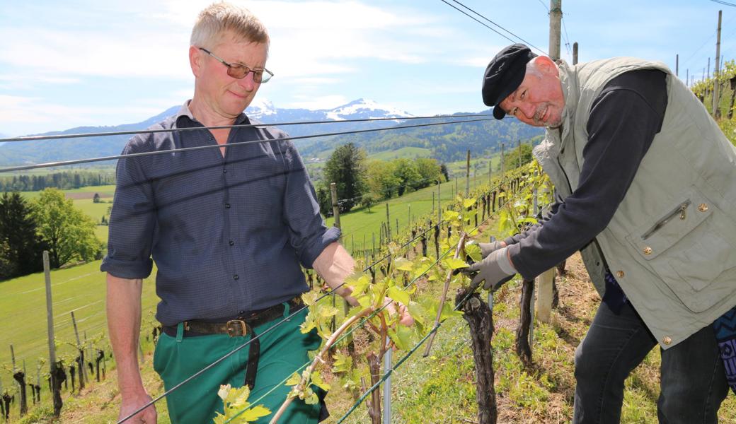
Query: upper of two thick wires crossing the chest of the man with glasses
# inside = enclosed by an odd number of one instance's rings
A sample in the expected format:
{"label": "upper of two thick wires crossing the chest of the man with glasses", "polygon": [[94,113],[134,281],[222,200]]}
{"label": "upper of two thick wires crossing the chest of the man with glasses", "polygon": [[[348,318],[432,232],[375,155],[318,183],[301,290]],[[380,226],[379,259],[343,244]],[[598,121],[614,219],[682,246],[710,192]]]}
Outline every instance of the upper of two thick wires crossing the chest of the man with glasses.
{"label": "upper of two thick wires crossing the chest of the man with glasses", "polygon": [[112,131],[112,132],[89,132],[78,134],[54,134],[54,135],[29,135],[24,137],[0,138],[0,143],[12,143],[18,141],[34,141],[34,140],[59,140],[65,138],[82,138],[82,137],[103,137],[110,135],[135,135],[135,134],[156,134],[158,132],[186,132],[196,131],[200,129],[232,129],[232,128],[262,128],[266,126],[290,126],[290,125],[311,125],[314,123],[346,123],[346,122],[369,122],[369,121],[403,121],[411,119],[439,119],[439,118],[475,118],[489,117],[489,114],[467,114],[467,115],[434,115],[434,116],[408,116],[406,118],[361,118],[361,119],[344,119],[342,121],[291,121],[277,123],[241,123],[238,125],[221,125],[221,126],[195,126],[192,128],[173,128],[173,129],[140,129],[130,131]]}

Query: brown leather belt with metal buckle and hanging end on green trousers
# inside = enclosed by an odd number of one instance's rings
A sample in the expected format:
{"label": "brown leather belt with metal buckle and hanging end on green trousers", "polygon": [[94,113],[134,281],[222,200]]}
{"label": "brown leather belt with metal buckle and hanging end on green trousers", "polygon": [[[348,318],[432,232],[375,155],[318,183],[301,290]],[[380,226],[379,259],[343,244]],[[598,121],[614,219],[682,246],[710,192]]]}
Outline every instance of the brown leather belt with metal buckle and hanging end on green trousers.
{"label": "brown leather belt with metal buckle and hanging end on green trousers", "polygon": [[[286,302],[289,304],[289,313],[293,313],[304,303],[302,299],[297,297]],[[270,308],[260,309],[258,311],[249,312],[233,319],[223,318],[222,320],[188,320],[184,321],[184,337],[206,336],[209,334],[227,334],[230,337],[244,337],[250,334],[252,342],[250,342],[248,351],[248,363],[245,371],[245,385],[253,389],[255,385],[255,375],[258,370],[258,359],[261,356],[261,342],[255,338],[254,327],[261,326],[278,317],[283,317],[286,310],[283,303],[271,306]],[[163,326],[163,333],[171,337],[177,336],[177,326]]]}

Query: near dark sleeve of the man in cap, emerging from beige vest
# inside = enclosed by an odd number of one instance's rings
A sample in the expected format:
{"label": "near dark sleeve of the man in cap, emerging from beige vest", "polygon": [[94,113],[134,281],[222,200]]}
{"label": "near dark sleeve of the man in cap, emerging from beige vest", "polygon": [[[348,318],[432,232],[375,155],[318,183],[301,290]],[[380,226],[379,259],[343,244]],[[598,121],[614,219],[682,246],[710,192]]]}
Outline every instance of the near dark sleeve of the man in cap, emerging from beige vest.
{"label": "near dark sleeve of the man in cap, emerging from beige vest", "polygon": [[662,71],[623,73],[604,87],[590,111],[578,187],[553,206],[543,225],[506,240],[525,279],[567,259],[606,228],[662,127],[666,107]]}

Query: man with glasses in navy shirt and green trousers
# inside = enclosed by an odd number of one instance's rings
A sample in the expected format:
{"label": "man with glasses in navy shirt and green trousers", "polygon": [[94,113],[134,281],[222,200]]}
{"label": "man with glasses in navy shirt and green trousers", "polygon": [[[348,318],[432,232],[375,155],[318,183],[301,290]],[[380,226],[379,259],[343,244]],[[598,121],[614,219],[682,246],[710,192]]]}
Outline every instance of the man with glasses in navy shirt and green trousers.
{"label": "man with glasses in navy shirt and green trousers", "polygon": [[[151,400],[137,351],[141,283],[152,262],[163,326],[154,368],[167,390],[250,342],[167,396],[172,423],[211,423],[222,412],[221,384],[248,385],[249,401],[276,412],[290,389],[280,383],[320,345],[315,331],[300,331],[306,309],[269,330],[302,308],[308,286],[300,265],[314,267],[330,287],[353,272],[339,229],[325,227],[286,133],[247,126],[254,121],[244,109],[273,76],[266,69],[268,49],[266,29],[249,11],[227,3],[202,10],[189,48],[193,98],[153,126],[173,131],[133,137],[123,153],[202,149],[118,162],[102,270],[121,418]],[[252,140],[263,143],[242,143]],[[349,288],[338,292],[355,304]],[[403,322],[411,322],[405,310]],[[281,421],[316,423],[320,412],[326,413],[319,403],[297,399]],[[150,406],[129,422],[155,421]]]}

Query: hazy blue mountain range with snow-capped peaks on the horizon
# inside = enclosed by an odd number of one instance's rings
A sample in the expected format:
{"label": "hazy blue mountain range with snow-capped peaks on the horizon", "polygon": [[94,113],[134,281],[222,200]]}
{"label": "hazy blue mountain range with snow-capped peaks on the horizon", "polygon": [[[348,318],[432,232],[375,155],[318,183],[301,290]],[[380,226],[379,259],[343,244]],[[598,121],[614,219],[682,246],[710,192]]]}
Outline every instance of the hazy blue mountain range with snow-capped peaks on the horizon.
{"label": "hazy blue mountain range with snow-capped peaks on the horizon", "polygon": [[[79,126],[63,131],[46,132],[33,135],[85,134],[93,132],[123,132],[149,128],[155,123],[174,115],[181,106],[166,109],[138,123],[124,123],[117,126]],[[489,111],[474,115],[487,114]],[[277,108],[270,101],[254,101],[246,109],[250,118],[263,123],[293,123],[283,129],[294,137],[351,132],[364,129],[378,129],[406,125],[402,118],[414,118],[409,112],[378,104],[367,98],[358,98],[333,109],[288,109]],[[453,115],[460,115],[456,113]],[[395,118],[389,121],[351,122],[353,119]],[[448,118],[457,121],[459,118]],[[300,122],[314,122],[300,124]],[[413,119],[411,124],[435,122],[435,119]],[[450,123],[442,126],[428,126],[416,129],[396,129],[392,131],[344,134],[331,137],[310,137],[297,140],[302,156],[326,157],[338,145],[353,142],[376,153],[394,151],[403,147],[430,148],[433,156],[440,160],[451,160],[459,156],[459,151],[470,148],[477,154],[498,151],[499,143],[511,143],[514,138],[526,140],[541,134],[539,129],[530,129],[517,121],[482,121],[475,123]],[[440,129],[442,127],[442,129]],[[79,137],[61,140],[34,140],[0,145],[0,165],[29,165],[44,162],[58,162],[71,159],[107,157],[120,154],[130,135],[110,135]],[[93,164],[94,165],[94,164]],[[99,162],[98,162],[99,165]]]}

